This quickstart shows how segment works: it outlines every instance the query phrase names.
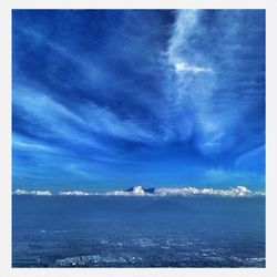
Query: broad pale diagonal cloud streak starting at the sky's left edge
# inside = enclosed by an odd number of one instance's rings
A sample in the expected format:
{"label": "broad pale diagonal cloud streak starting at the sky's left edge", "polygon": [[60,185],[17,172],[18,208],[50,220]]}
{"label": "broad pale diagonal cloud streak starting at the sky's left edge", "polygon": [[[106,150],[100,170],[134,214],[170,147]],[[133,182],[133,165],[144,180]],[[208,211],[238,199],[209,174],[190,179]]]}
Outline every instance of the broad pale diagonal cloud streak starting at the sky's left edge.
{"label": "broad pale diagonal cloud streak starting at the sky's left edge", "polygon": [[106,152],[102,143],[74,126],[85,126],[86,122],[83,119],[47,95],[45,89],[41,88],[39,92],[25,86],[14,88],[12,101],[13,105],[24,111],[29,121],[43,126],[42,136],[59,137],[70,143],[74,142]]}

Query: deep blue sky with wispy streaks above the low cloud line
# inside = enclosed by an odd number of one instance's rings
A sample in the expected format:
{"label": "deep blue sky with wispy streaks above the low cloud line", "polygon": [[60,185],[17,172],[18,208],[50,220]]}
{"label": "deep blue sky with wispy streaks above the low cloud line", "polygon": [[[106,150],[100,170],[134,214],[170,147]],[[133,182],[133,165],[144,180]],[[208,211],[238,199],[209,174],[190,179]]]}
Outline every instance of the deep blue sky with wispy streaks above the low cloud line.
{"label": "deep blue sky with wispy streaks above the low cloud line", "polygon": [[13,189],[265,191],[264,10],[13,10]]}

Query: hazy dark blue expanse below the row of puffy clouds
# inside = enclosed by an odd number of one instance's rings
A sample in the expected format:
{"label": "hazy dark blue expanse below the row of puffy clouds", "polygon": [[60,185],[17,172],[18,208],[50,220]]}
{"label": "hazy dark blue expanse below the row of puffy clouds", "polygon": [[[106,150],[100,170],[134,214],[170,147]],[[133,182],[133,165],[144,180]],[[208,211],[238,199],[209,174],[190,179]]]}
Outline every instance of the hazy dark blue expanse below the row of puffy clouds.
{"label": "hazy dark blue expanse below the row of puffy clouds", "polygon": [[13,267],[265,267],[265,197],[12,196]]}

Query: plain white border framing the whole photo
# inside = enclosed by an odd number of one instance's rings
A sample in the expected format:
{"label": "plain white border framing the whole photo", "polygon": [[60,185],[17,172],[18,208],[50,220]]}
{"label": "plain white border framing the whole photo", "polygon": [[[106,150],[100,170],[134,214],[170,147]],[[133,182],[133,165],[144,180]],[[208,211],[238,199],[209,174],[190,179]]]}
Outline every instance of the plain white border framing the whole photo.
{"label": "plain white border framing the whole photo", "polygon": [[[266,268],[12,268],[11,267],[11,11],[12,9],[266,10]],[[2,0],[0,2],[0,276],[277,276],[277,1],[276,0]],[[275,274],[274,274],[275,273]]]}

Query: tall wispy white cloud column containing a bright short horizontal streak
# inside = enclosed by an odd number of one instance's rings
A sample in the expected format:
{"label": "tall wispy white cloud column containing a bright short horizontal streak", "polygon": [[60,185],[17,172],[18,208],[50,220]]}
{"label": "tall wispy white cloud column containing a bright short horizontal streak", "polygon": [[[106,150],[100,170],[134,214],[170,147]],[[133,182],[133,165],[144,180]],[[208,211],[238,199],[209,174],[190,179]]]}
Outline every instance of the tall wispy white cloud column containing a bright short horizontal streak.
{"label": "tall wispy white cloud column containing a bright short horizontal streak", "polygon": [[[182,106],[183,111],[193,111],[191,120],[194,123],[195,144],[202,154],[209,156],[234,145],[242,109],[239,104],[230,109],[232,96],[223,98],[223,94],[218,93],[222,82],[218,76],[225,73],[218,71],[222,69],[220,62],[211,58],[205,49],[198,49],[197,45],[195,48],[197,39],[206,41],[209,35],[203,31],[202,12],[199,10],[176,12],[167,49],[167,65],[176,73],[173,74],[175,88],[168,92],[168,99],[176,109]],[[215,45],[220,47],[220,44]],[[234,98],[233,100],[235,101]]]}

